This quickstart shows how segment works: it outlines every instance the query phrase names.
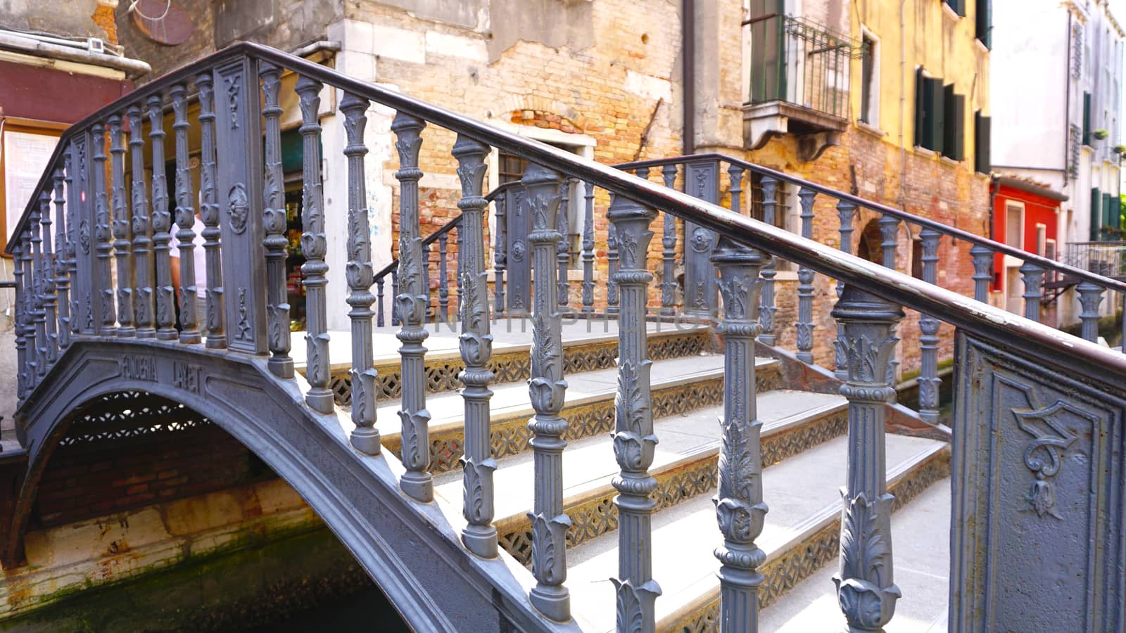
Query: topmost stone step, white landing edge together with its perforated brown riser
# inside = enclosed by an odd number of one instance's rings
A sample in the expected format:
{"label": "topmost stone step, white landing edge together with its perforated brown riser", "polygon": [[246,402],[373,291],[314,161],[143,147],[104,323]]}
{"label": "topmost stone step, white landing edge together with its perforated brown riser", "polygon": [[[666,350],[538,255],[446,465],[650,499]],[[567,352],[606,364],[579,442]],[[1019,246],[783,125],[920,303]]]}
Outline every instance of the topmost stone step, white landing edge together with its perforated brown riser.
{"label": "topmost stone step, white landing edge together with its perforated brown riser", "polygon": [[[429,337],[423,345],[426,355],[426,383],[429,393],[453,391],[461,387],[457,374],[465,368],[458,349],[457,323],[428,323]],[[498,383],[528,378],[531,349],[531,320],[513,318],[492,323],[492,358],[490,368]],[[372,348],[378,376],[378,399],[399,398],[402,387],[400,375],[399,327],[373,328]],[[649,357],[652,360],[695,356],[712,349],[712,330],[695,323],[649,322]],[[563,321],[563,368],[568,374],[614,367],[618,356],[617,321],[568,319]],[[331,380],[329,387],[337,404],[351,404],[351,332],[329,332]],[[302,332],[293,333],[291,355],[297,371],[305,372],[305,344]]]}

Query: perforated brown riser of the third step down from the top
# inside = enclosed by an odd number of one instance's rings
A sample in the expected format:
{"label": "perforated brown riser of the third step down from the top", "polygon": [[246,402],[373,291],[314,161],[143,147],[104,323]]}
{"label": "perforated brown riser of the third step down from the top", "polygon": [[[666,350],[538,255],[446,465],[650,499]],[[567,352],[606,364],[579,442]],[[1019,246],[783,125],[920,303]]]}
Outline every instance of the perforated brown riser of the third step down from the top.
{"label": "perforated brown riser of the third step down from the top", "polygon": [[[848,405],[843,402],[820,405],[801,413],[763,425],[761,431],[762,467],[771,466],[848,430]],[[683,501],[715,490],[718,469],[720,442],[699,447],[677,460],[653,469],[656,479],[656,509],[661,511]],[[591,482],[590,488],[574,492],[563,500],[564,511],[571,519],[568,547],[617,529],[617,496],[605,479]],[[530,502],[529,502],[530,503]],[[531,562],[531,523],[526,515],[502,517],[493,524],[500,545],[517,561]],[[716,529],[718,535],[718,528]]]}

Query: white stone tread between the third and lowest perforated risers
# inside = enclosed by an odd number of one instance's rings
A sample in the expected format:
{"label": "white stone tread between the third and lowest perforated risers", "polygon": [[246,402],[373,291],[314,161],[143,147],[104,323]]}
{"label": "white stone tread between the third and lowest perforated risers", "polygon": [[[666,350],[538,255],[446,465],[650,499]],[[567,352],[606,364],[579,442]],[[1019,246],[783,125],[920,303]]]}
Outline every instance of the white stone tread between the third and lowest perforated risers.
{"label": "white stone tread between the third and lowest perforated risers", "polygon": [[[846,478],[847,438],[814,446],[763,471],[763,499],[770,510],[758,538],[768,559],[796,545],[811,529],[840,512],[840,485]],[[946,445],[931,439],[887,436],[888,476],[924,462]],[[697,604],[717,586],[713,550],[722,538],[711,496],[699,496],[653,516],[653,578],[662,596],[658,622],[670,621],[686,605]],[[614,587],[618,535],[607,533],[568,552],[571,604],[596,631],[615,626]],[[763,628],[769,631],[769,628]]]}

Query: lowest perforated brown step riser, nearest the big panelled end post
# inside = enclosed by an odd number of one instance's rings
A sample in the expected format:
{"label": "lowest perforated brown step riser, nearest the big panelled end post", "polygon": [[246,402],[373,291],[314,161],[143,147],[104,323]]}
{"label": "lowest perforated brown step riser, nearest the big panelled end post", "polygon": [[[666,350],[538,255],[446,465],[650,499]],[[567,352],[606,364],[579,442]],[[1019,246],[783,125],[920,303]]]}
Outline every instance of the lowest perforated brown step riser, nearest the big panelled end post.
{"label": "lowest perforated brown step riser, nearest the big panelled end post", "polygon": [[[888,471],[887,478],[887,491],[895,497],[892,511],[899,510],[949,474],[948,444],[936,444],[896,464]],[[759,567],[759,571],[766,577],[759,587],[760,609],[770,606],[825,564],[838,560],[840,517],[841,505],[835,502],[817,510],[796,526],[794,536],[759,543],[767,552],[766,561]],[[718,528],[715,538],[718,545],[722,541]],[[705,631],[715,628],[720,622],[720,580],[714,576],[662,599],[664,604],[676,606],[667,609],[658,607],[658,631]]]}

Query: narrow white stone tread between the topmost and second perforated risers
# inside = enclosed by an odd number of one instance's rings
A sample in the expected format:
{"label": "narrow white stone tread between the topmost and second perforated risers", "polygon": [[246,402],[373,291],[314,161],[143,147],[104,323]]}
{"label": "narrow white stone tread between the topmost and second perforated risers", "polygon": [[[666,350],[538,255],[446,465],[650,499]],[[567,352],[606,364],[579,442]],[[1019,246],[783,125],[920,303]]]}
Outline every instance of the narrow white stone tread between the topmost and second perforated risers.
{"label": "narrow white stone tread between the topmost and second perforated risers", "polygon": [[[754,366],[765,368],[776,365],[772,358],[757,358]],[[689,384],[704,378],[723,375],[722,355],[689,356],[654,360],[650,373],[650,384],[653,389]],[[564,376],[568,382],[564,407],[574,407],[597,400],[613,400],[617,392],[617,369],[597,369]],[[528,396],[527,382],[512,382],[490,385],[493,392],[489,409],[494,419],[501,416],[535,414]],[[397,437],[399,399],[379,401],[376,420],[379,420],[384,438]],[[447,428],[461,428],[465,413],[465,401],[458,392],[427,394],[427,410],[430,411],[430,430],[437,433]]]}

